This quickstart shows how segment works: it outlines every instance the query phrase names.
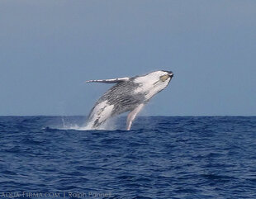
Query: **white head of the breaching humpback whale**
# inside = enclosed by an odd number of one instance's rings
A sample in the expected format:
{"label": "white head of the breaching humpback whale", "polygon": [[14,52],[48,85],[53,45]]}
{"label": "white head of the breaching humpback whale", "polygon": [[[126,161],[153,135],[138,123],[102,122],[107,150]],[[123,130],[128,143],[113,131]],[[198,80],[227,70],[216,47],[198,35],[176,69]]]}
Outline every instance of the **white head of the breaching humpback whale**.
{"label": "white head of the breaching humpback whale", "polygon": [[136,77],[134,82],[139,83],[139,87],[135,89],[135,92],[145,92],[145,98],[149,100],[156,93],[166,88],[172,78],[173,72],[165,70],[154,71],[144,76]]}

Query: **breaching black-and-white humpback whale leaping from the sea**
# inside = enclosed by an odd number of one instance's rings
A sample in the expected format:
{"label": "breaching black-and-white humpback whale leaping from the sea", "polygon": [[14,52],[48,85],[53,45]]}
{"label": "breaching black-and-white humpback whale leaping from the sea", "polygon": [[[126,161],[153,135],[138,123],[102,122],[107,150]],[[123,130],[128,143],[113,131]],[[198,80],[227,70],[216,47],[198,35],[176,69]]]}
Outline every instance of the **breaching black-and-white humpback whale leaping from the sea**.
{"label": "breaching black-and-white humpback whale leaping from the sea", "polygon": [[88,80],[87,83],[116,83],[100,97],[88,116],[88,128],[98,129],[112,116],[130,111],[126,130],[130,130],[137,114],[155,94],[168,86],[172,71],[159,70],[132,78]]}

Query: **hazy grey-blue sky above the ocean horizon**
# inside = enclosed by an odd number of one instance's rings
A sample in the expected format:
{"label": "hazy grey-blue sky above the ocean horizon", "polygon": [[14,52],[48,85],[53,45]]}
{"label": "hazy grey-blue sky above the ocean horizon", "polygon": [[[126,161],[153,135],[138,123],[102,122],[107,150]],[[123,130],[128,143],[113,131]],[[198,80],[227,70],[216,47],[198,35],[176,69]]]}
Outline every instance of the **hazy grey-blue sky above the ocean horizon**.
{"label": "hazy grey-blue sky above the ocean horizon", "polygon": [[88,115],[111,85],[172,70],[144,115],[256,115],[256,1],[0,2],[0,115]]}

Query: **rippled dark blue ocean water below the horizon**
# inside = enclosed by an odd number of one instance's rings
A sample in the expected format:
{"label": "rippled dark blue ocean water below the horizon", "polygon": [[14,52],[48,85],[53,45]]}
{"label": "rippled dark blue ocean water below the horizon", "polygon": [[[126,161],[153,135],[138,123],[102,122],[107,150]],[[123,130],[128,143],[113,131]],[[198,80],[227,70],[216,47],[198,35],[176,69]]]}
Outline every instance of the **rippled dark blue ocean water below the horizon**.
{"label": "rippled dark blue ocean water below the horizon", "polygon": [[0,197],[256,198],[256,117],[84,120],[0,117]]}

